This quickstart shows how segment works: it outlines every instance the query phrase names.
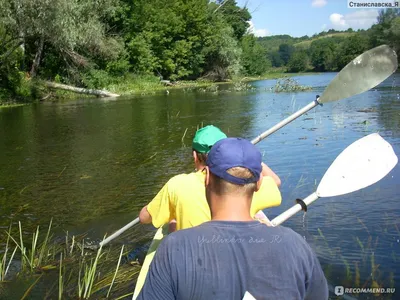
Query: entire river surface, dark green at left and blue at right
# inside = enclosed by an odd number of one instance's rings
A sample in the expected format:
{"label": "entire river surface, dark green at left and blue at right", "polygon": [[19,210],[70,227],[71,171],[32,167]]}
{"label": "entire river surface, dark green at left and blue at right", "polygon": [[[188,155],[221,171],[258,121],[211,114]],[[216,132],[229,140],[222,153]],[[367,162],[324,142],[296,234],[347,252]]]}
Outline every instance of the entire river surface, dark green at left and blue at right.
{"label": "entire river surface, dark green at left and blue at right", "polygon": [[[321,95],[335,75],[297,77],[313,87],[299,93],[274,94],[276,81],[266,80],[246,92],[222,86],[218,93],[171,90],[1,109],[1,230],[21,221],[32,232],[53,218],[60,236],[88,231],[101,238],[136,218],[171,176],[193,170],[198,126],[254,138]],[[399,86],[395,74],[366,93],[311,110],[257,144],[282,179],[283,203],[266,214],[273,218],[315,191],[336,156],[363,136],[379,132],[399,155]],[[298,214],[285,225],[309,241],[332,286],[375,281],[396,287],[393,299],[400,299],[399,192],[397,165],[378,183],[319,199],[305,218]]]}

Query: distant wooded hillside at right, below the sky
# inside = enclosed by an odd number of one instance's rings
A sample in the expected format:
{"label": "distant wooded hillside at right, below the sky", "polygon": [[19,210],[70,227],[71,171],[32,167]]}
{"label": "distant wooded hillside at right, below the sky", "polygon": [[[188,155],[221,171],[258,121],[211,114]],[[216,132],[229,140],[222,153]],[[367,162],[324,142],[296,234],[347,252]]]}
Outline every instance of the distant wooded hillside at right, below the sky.
{"label": "distant wooded hillside at right, below the sky", "polygon": [[357,55],[382,44],[400,54],[400,10],[380,11],[377,23],[368,30],[331,29],[300,38],[277,35],[260,38],[259,43],[273,67],[285,66],[289,72],[339,71]]}

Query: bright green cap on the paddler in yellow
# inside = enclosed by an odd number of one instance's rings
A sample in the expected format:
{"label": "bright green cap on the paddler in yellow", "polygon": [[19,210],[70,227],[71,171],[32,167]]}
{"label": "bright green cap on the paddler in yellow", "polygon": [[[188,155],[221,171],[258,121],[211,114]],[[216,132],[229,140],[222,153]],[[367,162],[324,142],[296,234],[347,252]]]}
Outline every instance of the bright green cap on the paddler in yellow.
{"label": "bright green cap on the paddler in yellow", "polygon": [[208,125],[196,131],[192,148],[200,153],[208,153],[216,142],[226,137],[226,134],[218,127]]}

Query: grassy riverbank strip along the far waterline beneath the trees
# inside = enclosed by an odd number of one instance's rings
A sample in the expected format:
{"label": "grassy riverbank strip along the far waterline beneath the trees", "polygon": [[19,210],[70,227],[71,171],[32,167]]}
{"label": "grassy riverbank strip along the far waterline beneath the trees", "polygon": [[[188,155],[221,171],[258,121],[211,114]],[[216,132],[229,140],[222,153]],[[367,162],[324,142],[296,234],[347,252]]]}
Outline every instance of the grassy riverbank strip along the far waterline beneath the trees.
{"label": "grassy riverbank strip along the far waterline beneath the trees", "polygon": [[[166,92],[174,89],[184,89],[187,91],[202,89],[202,91],[215,91],[218,86],[223,84],[232,84],[233,89],[236,91],[247,90],[250,88],[249,85],[245,84],[251,81],[257,80],[269,80],[287,78],[293,76],[311,75],[317,73],[285,73],[284,70],[272,71],[262,76],[250,77],[242,76],[236,77],[231,80],[224,82],[215,82],[205,79],[197,80],[179,80],[176,82],[160,81],[159,77],[156,76],[138,76],[128,74],[122,78],[115,78],[111,83],[107,84],[101,90],[105,90],[111,93],[118,94],[120,96],[130,95],[147,95],[155,94],[157,92]],[[32,82],[26,80],[25,92],[22,96],[16,99],[2,99],[0,98],[0,108],[3,107],[15,107],[32,102],[41,101],[60,101],[60,100],[74,100],[82,98],[93,98],[93,95],[78,94],[70,91],[50,89],[45,86],[41,81]],[[92,87],[91,87],[92,88]]]}

